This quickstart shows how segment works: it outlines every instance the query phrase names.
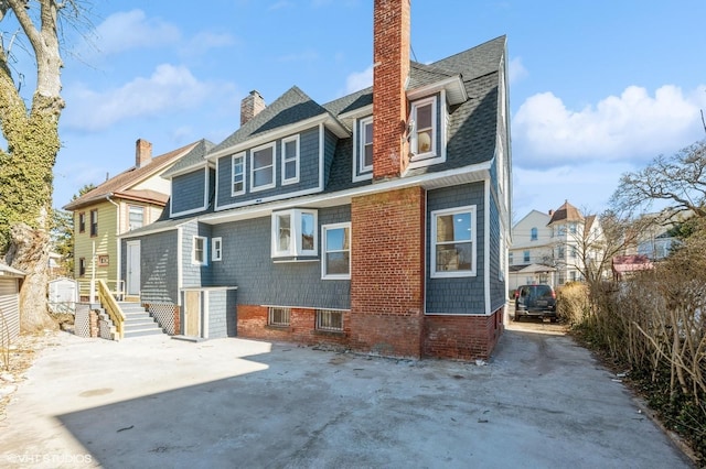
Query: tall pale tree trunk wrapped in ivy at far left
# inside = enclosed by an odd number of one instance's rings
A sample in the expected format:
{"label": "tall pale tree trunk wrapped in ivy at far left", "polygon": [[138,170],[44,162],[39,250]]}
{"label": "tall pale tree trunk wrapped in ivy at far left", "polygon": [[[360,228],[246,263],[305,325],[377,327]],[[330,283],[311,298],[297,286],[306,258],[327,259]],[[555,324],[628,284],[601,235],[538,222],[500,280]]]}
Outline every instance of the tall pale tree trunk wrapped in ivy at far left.
{"label": "tall pale tree trunk wrapped in ivy at far left", "polygon": [[[0,252],[26,273],[20,294],[24,331],[53,326],[46,314],[46,281],[53,168],[64,108],[60,13],[77,18],[81,8],[76,0],[0,0],[3,31],[17,29],[0,43],[0,127],[7,142],[0,149]],[[24,74],[13,69],[18,44],[36,66],[29,107],[21,95]]]}

